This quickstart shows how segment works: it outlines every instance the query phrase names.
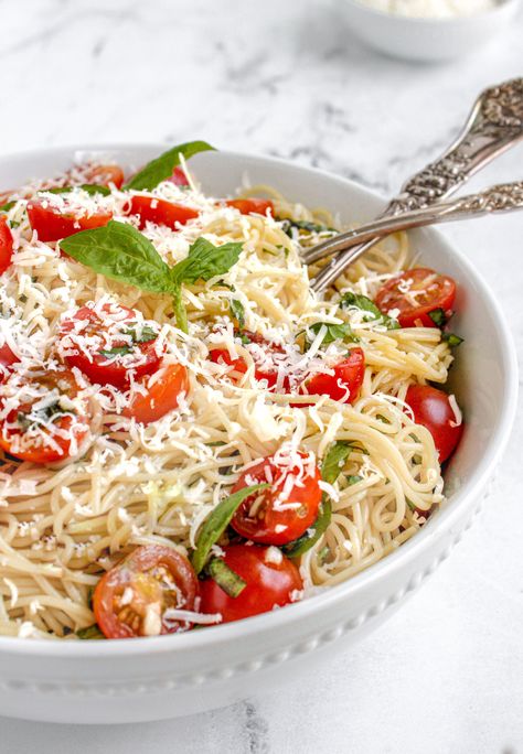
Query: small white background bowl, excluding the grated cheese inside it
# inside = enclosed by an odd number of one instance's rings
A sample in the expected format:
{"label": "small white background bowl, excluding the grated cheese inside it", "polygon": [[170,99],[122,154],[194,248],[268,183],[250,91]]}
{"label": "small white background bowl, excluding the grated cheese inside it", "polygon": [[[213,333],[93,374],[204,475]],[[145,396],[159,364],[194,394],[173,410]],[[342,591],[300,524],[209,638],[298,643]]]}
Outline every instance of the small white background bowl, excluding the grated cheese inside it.
{"label": "small white background bowl, excluding the grated cheese inside it", "polygon": [[360,0],[344,0],[352,31],[372,47],[394,57],[446,61],[484,47],[508,28],[521,0],[501,0],[491,11],[451,19],[396,15]]}

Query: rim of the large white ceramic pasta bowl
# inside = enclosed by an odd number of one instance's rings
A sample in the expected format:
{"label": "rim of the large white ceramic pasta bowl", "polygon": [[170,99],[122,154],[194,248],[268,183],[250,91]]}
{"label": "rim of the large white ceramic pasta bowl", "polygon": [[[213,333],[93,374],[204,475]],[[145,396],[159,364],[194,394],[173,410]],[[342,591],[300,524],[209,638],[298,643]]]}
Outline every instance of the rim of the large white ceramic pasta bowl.
{"label": "rim of the large white ceramic pasta bowl", "polygon": [[[160,153],[166,149],[164,144],[158,143],[119,143],[119,144],[82,144],[51,149],[28,150],[18,152],[11,155],[0,158],[0,169],[2,163],[10,160],[30,159],[34,155],[38,159],[45,153],[52,155],[56,153],[63,155],[64,152],[71,152],[73,155],[76,152],[103,152],[103,153],[118,153],[132,152],[140,150],[156,150]],[[262,155],[253,155],[246,153],[238,153],[233,151],[221,151],[222,155],[228,154],[232,158],[245,159],[250,162],[254,160],[262,163],[270,163],[279,165],[284,170],[292,164],[292,168],[303,170],[305,179],[310,180],[311,174],[325,176],[329,179],[335,177],[350,186],[357,187],[359,191],[365,191],[375,198],[380,195],[376,192],[362,187],[353,181],[343,179],[342,176],[333,175],[327,171],[321,171],[312,168],[295,165],[289,161],[278,158],[267,158]],[[206,152],[207,159],[212,157],[212,152]],[[234,188],[234,187],[232,187]],[[449,246],[445,237],[436,229],[430,228],[430,234],[438,237],[441,245]],[[332,605],[340,601],[345,601],[351,595],[366,590],[370,584],[378,581],[386,571],[394,572],[399,570],[405,563],[412,562],[416,559],[417,553],[424,549],[426,542],[430,539],[437,538],[439,532],[452,527],[452,524],[459,518],[459,509],[461,502],[471,496],[480,497],[484,485],[493,473],[493,470],[500,460],[503,450],[508,443],[513,419],[515,416],[517,401],[517,358],[515,347],[510,335],[504,314],[484,283],[482,278],[478,274],[476,268],[469,262],[459,251],[453,249],[452,254],[459,257],[460,263],[474,280],[474,284],[481,291],[482,298],[490,308],[497,324],[498,335],[501,351],[503,354],[502,373],[505,375],[506,392],[501,416],[495,431],[489,439],[488,448],[482,460],[482,463],[477,467],[471,477],[466,482],[463,487],[452,496],[452,502],[448,506],[438,511],[437,516],[431,518],[429,523],[421,528],[412,539],[402,545],[397,550],[386,556],[378,562],[369,567],[366,570],[356,574],[349,581],[345,581],[335,586],[325,589],[324,592],[317,594],[310,599],[288,605],[281,610],[275,610],[270,613],[264,613],[256,617],[238,621],[235,623],[227,623],[206,628],[205,631],[188,632],[186,634],[177,634],[172,636],[150,637],[147,639],[129,640],[129,639],[113,639],[110,642],[64,642],[52,639],[28,639],[11,636],[0,636],[0,654],[23,655],[28,656],[45,656],[45,657],[110,657],[117,655],[122,656],[142,656],[148,654],[161,654],[172,651],[189,651],[198,650],[202,647],[218,647],[221,644],[228,644],[236,638],[245,638],[250,635],[263,633],[266,627],[282,628],[286,624],[295,621],[307,620],[311,614],[321,611],[328,605]]]}

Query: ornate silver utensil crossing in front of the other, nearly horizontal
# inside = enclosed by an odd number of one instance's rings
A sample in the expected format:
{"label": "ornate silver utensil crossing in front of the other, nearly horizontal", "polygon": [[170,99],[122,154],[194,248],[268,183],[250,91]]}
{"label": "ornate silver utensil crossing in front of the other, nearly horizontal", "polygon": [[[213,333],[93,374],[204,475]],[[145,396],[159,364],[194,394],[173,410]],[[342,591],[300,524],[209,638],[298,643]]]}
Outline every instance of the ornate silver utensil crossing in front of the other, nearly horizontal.
{"label": "ornate silver utensil crossing in front of the other, nearly horizontal", "polygon": [[361,244],[374,241],[376,238],[383,238],[398,230],[471,219],[514,209],[523,209],[523,181],[492,186],[481,193],[470,194],[451,202],[441,202],[397,215],[386,215],[308,249],[303,252],[302,259],[306,265],[311,265],[323,257],[359,247]]}

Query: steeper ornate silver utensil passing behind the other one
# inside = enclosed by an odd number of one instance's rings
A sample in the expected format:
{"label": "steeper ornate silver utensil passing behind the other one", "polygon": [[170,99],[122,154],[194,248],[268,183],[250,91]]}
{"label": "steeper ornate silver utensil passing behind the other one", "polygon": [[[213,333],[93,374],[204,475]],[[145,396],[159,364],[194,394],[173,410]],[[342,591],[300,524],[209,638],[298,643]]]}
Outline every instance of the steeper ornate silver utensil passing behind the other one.
{"label": "steeper ornate silver utensil passing behind the other one", "polygon": [[[523,138],[523,78],[485,89],[458,139],[439,160],[409,179],[380,217],[428,207],[458,191],[474,173]],[[378,239],[340,254],[311,281],[316,291],[337,278]]]}

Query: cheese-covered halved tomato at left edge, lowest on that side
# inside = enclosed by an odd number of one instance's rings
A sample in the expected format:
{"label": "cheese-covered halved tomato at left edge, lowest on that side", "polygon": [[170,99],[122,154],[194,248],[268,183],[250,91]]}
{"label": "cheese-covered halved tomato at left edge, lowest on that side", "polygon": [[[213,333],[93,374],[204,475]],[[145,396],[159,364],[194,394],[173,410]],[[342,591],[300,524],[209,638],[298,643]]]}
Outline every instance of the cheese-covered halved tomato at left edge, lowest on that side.
{"label": "cheese-covered halved tomato at left edge, lowest on that side", "polygon": [[[17,381],[11,383],[14,378]],[[56,400],[45,408],[35,408],[51,391]],[[34,463],[53,463],[76,455],[88,434],[90,412],[86,401],[81,410],[71,405],[78,394],[73,374],[49,371],[25,377],[23,384],[12,375],[0,387],[0,416],[9,399],[20,394],[20,405],[0,420],[0,448],[17,459]]]}

